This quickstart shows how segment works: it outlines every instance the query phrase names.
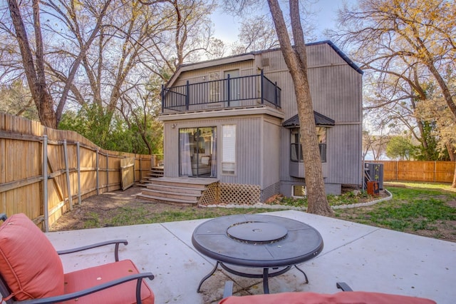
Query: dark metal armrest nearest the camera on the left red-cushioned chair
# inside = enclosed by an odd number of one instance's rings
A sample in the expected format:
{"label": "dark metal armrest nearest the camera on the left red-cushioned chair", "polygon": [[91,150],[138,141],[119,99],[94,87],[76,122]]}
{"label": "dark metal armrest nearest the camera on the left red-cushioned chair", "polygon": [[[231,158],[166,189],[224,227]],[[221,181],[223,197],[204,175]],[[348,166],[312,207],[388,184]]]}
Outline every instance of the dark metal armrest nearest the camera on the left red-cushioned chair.
{"label": "dark metal armrest nearest the camera on the left red-cushioned chair", "polygon": [[112,280],[107,283],[103,283],[103,284],[100,284],[100,285],[97,285],[97,286],[94,286],[91,288],[77,291],[76,293],[68,293],[66,295],[56,295],[54,297],[41,298],[41,299],[24,300],[24,301],[18,301],[15,303],[24,303],[24,304],[59,303],[59,302],[71,300],[74,298],[81,298],[83,295],[90,295],[90,293],[96,293],[97,291],[111,288],[116,285],[120,285],[122,283],[129,282],[130,280],[138,280],[138,282],[136,283],[136,303],[141,303],[141,283],[142,283],[143,278],[149,278],[150,280],[153,280],[154,275],[152,275],[152,273],[138,273],[135,275],[128,275],[124,278]]}

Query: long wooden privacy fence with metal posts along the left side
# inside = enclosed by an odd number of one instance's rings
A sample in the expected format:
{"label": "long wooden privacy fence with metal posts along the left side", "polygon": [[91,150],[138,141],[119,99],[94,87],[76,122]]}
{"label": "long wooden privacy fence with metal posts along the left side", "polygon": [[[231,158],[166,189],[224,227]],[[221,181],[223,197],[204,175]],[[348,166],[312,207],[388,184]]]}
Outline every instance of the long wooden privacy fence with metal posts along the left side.
{"label": "long wooden privacy fence with metal posts along the left side", "polygon": [[73,131],[0,113],[0,213],[48,231],[75,204],[145,178],[155,156],[103,150]]}

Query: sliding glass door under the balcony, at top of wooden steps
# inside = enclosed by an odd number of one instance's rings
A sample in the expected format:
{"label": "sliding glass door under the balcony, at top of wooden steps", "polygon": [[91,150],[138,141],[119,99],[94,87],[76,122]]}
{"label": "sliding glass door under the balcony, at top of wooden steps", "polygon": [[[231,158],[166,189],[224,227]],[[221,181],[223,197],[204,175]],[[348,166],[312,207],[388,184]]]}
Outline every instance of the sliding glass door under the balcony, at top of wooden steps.
{"label": "sliding glass door under the balcony, at top of wooden steps", "polygon": [[179,129],[179,175],[217,177],[217,128]]}

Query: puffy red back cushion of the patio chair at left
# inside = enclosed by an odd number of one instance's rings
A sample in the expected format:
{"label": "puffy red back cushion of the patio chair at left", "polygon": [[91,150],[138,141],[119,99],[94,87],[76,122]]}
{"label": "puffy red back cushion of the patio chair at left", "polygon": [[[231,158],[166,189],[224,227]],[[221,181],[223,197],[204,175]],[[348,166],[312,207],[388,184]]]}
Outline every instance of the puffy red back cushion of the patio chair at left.
{"label": "puffy red back cushion of the patio chair at left", "polygon": [[25,214],[15,214],[0,226],[0,275],[16,300],[63,294],[61,259]]}

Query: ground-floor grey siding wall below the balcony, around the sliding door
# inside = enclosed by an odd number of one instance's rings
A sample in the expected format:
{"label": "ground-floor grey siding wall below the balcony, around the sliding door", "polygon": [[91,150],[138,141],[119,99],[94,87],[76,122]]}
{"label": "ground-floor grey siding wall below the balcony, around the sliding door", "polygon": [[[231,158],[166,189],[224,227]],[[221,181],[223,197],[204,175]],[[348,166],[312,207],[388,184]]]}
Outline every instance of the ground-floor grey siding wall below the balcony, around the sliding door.
{"label": "ground-floor grey siding wall below the balcony, around the sliding door", "polygon": [[[217,179],[221,183],[257,185],[260,189],[279,181],[279,149],[282,118],[268,114],[218,116],[166,120],[165,168],[167,177],[179,177],[179,129],[217,127]],[[222,126],[236,125],[236,173],[222,173]]]}

